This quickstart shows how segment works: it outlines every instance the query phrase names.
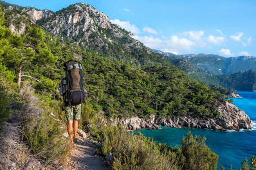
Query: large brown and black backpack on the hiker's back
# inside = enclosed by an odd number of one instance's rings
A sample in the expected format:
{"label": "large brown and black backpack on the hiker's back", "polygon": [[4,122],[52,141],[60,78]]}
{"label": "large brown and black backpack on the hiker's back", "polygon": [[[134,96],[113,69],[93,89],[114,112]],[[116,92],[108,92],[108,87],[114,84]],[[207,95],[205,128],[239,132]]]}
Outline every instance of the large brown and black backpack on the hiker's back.
{"label": "large brown and black backpack on the hiker's back", "polygon": [[60,95],[64,97],[67,106],[84,103],[87,90],[83,86],[82,65],[73,60],[64,63],[66,77],[60,84]]}

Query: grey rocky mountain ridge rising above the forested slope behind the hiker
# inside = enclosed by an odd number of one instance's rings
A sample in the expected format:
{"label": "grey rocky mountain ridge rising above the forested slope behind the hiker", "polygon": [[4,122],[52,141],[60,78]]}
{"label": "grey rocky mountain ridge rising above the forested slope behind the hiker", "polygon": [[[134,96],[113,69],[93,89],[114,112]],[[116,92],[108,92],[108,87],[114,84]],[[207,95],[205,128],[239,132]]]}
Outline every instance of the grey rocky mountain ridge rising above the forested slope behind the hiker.
{"label": "grey rocky mountain ridge rising above the forested slope behind the hiker", "polygon": [[[112,24],[107,15],[89,4],[73,4],[54,13],[31,7],[19,6],[16,8],[15,5],[3,1],[0,1],[1,3],[5,6],[4,11],[21,10],[30,15],[32,22],[50,32],[52,37],[60,38],[64,44],[75,43],[86,48],[87,51],[97,51],[102,55],[114,56],[131,65],[159,63],[174,67],[162,56],[153,53],[142,42],[134,39],[133,33]],[[11,30],[18,34],[24,33],[26,24],[23,22],[14,24],[17,22],[17,19],[15,22],[10,22],[12,23]]]}

